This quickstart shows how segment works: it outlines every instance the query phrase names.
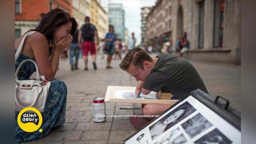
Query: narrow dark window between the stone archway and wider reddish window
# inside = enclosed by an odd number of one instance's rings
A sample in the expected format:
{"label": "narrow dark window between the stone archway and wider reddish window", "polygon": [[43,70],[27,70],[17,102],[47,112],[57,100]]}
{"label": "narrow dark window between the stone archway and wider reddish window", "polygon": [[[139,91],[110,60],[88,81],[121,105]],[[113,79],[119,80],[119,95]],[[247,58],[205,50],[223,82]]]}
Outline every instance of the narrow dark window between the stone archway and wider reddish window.
{"label": "narrow dark window between the stone archway and wider reddish window", "polygon": [[198,48],[204,48],[204,1],[199,3],[199,40]]}

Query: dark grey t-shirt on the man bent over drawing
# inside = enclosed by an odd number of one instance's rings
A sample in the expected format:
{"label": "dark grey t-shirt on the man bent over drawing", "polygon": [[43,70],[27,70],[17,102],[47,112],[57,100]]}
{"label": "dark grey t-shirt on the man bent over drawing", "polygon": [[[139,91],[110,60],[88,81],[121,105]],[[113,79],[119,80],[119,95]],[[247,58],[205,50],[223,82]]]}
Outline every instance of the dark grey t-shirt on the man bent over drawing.
{"label": "dark grey t-shirt on the man bent over drawing", "polygon": [[197,88],[208,93],[203,80],[189,61],[172,54],[156,57],[158,60],[143,85],[144,89],[170,92],[177,99],[189,96]]}

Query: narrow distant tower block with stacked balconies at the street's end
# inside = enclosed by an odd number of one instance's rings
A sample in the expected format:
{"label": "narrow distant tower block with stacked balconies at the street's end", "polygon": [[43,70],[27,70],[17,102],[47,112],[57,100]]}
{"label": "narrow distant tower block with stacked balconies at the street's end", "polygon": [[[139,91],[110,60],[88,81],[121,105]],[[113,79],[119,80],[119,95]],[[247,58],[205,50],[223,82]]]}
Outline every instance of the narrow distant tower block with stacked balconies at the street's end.
{"label": "narrow distant tower block with stacked balconies at the street's end", "polygon": [[147,31],[147,16],[150,12],[150,7],[141,8],[141,44],[146,44],[146,31]]}

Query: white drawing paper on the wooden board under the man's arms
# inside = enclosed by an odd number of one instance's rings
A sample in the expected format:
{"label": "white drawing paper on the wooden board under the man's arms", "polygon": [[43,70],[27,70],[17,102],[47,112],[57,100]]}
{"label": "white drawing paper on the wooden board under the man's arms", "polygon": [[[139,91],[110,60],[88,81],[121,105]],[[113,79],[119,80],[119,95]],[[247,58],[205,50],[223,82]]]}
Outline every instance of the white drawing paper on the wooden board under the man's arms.
{"label": "white drawing paper on the wooden board under the man's arms", "polygon": [[[137,95],[134,91],[124,91],[119,90],[116,91],[117,98],[119,99],[136,99]],[[159,99],[158,96],[156,96],[156,92],[150,92],[148,95],[140,94],[140,96],[137,99]]]}

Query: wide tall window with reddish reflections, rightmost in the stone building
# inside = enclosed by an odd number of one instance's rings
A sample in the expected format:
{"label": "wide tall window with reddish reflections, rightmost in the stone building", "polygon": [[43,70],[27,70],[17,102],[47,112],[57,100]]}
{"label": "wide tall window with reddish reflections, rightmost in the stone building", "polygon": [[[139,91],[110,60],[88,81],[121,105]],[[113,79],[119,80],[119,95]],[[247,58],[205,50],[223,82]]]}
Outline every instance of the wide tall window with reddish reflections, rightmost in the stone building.
{"label": "wide tall window with reddish reflections, rightmost in the stone building", "polygon": [[223,22],[225,0],[215,0],[214,2],[214,36],[213,47],[223,46]]}

